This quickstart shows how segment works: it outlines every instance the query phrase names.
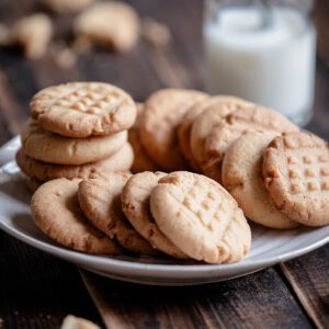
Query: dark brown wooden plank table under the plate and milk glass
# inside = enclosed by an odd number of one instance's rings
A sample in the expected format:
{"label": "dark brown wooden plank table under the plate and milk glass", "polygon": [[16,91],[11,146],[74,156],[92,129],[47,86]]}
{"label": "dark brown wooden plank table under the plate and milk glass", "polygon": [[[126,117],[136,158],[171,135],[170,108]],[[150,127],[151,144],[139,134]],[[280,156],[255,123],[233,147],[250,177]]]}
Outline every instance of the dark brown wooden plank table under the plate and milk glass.
{"label": "dark brown wooden plank table under the plate and milk glass", "polygon": [[[140,101],[163,87],[203,88],[202,2],[131,2],[141,16],[170,26],[169,47],[159,49],[141,41],[126,55],[97,49],[79,56],[72,69],[58,67],[52,52],[29,61],[16,49],[0,50],[0,145],[20,132],[29,117],[30,98],[47,86],[109,81]],[[37,9],[37,1],[0,0],[0,21],[10,23]],[[56,38],[68,38],[70,18],[53,19]],[[329,1],[317,2],[315,20],[319,35],[316,103],[307,128],[329,140]],[[329,327],[328,245],[228,282],[151,287],[80,273],[72,264],[0,231],[0,328],[58,328],[68,314],[109,328]]]}

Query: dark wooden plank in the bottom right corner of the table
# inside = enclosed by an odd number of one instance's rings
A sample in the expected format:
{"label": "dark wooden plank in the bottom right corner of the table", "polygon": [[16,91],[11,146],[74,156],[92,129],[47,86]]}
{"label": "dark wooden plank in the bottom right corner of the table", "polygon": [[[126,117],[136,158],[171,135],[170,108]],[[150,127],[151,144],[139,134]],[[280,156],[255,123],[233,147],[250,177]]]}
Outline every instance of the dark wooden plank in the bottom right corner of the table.
{"label": "dark wooden plank in the bottom right corner of the table", "polygon": [[329,245],[281,269],[317,328],[329,324]]}

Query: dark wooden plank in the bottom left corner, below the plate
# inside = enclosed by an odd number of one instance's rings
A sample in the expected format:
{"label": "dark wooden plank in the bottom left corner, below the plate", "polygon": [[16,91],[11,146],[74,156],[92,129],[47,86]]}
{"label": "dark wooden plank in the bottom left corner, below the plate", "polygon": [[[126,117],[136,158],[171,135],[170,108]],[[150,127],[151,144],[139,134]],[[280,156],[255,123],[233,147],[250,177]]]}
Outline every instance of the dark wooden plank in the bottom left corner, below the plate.
{"label": "dark wooden plank in the bottom left corner, below the plate", "polygon": [[102,324],[73,265],[0,231],[0,328],[59,328],[68,314]]}

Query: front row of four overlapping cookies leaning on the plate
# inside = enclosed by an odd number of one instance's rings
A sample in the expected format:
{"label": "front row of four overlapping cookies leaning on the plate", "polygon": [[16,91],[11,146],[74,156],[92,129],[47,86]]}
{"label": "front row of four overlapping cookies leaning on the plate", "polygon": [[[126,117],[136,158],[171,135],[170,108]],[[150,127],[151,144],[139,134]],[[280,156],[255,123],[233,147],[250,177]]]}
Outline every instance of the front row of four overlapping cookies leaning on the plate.
{"label": "front row of four overlapping cookies leaning on the plate", "polygon": [[35,192],[31,209],[48,237],[88,253],[230,263],[251,245],[250,227],[230,194],[186,171],[57,179]]}

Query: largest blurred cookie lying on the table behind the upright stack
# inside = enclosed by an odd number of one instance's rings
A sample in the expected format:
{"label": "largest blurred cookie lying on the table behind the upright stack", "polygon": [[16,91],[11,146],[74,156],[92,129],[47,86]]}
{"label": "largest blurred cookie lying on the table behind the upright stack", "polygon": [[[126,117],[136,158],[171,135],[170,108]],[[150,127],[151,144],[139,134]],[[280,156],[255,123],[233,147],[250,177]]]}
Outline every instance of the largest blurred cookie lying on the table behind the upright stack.
{"label": "largest blurred cookie lying on the table behind the upright stack", "polygon": [[86,9],[75,20],[73,29],[91,43],[128,52],[138,42],[140,22],[129,4],[107,1]]}

